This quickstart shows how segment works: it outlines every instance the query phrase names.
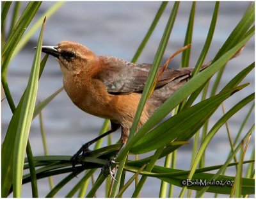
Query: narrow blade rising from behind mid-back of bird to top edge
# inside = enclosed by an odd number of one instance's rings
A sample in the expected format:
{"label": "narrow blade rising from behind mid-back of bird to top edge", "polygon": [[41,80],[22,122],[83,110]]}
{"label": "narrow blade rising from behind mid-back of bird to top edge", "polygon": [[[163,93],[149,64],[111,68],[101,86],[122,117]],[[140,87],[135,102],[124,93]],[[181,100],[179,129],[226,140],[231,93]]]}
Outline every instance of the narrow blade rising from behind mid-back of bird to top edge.
{"label": "narrow blade rising from behind mid-back of bird to top edge", "polygon": [[145,37],[143,38],[143,40],[142,40],[140,46],[138,47],[138,50],[135,52],[135,54],[134,54],[134,56],[133,56],[133,58],[132,58],[132,62],[133,62],[133,63],[135,63],[135,62],[138,60],[138,58],[139,58],[141,52],[143,51],[143,49],[144,49],[145,45],[147,44],[147,42],[148,42],[150,36],[152,35],[154,29],[156,28],[157,22],[159,21],[161,15],[163,14],[163,12],[164,12],[164,10],[165,10],[167,4],[168,4],[168,2],[166,2],[166,1],[164,1],[163,3],[161,3],[161,6],[159,7],[159,9],[158,9],[158,11],[157,11],[155,18],[154,18],[154,20],[152,21],[152,24],[150,25],[150,28],[149,28],[148,31],[147,31],[147,34],[146,34]]}

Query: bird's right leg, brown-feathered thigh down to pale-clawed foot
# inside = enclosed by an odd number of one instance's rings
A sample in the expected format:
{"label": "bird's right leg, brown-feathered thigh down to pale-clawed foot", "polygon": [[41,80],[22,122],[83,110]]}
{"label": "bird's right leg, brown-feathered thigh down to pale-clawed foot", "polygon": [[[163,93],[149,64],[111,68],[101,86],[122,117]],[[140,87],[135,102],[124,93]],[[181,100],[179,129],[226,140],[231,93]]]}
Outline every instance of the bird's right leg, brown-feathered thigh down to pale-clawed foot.
{"label": "bird's right leg, brown-feathered thigh down to pale-clawed foot", "polygon": [[118,163],[115,162],[115,158],[120,153],[120,151],[124,148],[125,144],[127,143],[128,136],[129,136],[129,129],[126,129],[126,128],[122,127],[122,136],[121,136],[121,144],[122,145],[119,148],[116,155],[114,157],[112,157],[111,159],[108,159],[107,163],[101,169],[104,176],[107,177],[110,174],[111,178],[115,181],[116,181],[116,179],[115,179],[115,168],[113,168],[113,170],[111,170],[111,165],[112,164],[118,164]]}

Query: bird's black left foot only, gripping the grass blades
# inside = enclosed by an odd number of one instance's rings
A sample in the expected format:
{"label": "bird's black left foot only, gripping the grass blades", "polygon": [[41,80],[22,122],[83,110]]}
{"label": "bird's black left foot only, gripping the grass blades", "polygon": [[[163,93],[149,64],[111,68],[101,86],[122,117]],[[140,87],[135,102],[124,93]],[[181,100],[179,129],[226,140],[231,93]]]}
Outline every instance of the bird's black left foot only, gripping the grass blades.
{"label": "bird's black left foot only, gripping the grass blades", "polygon": [[84,144],[77,152],[76,154],[74,154],[71,158],[70,161],[72,163],[72,170],[73,170],[73,174],[76,176],[76,164],[82,164],[82,166],[84,166],[84,162],[83,159],[84,157],[86,157],[86,155],[88,154],[88,152],[90,152],[88,143]]}

